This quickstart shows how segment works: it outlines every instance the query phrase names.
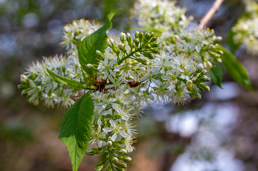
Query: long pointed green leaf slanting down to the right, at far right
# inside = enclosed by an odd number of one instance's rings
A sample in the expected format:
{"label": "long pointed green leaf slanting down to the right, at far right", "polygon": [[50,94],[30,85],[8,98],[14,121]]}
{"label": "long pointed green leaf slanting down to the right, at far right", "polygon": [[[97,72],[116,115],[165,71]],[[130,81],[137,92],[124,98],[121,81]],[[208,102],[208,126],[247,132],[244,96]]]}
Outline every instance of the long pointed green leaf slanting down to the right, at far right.
{"label": "long pointed green leaf slanting down to the right, at far right", "polygon": [[226,50],[223,46],[218,45],[217,48],[224,52],[222,55],[220,55],[220,58],[222,59],[222,62],[229,76],[239,84],[253,91],[253,88],[245,67],[242,66],[239,63],[239,61],[235,58],[235,56],[231,52]]}

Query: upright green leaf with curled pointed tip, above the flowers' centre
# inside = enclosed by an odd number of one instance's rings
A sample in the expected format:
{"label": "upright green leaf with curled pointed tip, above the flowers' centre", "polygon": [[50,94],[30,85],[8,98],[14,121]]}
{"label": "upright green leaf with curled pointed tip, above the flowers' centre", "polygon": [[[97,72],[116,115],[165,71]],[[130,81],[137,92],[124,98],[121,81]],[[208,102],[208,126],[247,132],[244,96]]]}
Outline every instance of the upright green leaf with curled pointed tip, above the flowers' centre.
{"label": "upright green leaf with curled pointed tip, above the flowers' centre", "polygon": [[121,10],[122,9],[118,9],[110,12],[106,17],[105,24],[91,35],[85,37],[82,43],[78,45],[79,61],[86,73],[93,75],[92,70],[86,65],[98,65],[100,57],[97,55],[96,50],[99,50],[102,53],[105,52],[105,49],[108,47],[106,44],[106,39],[108,38],[106,31],[112,28],[111,20]]}

